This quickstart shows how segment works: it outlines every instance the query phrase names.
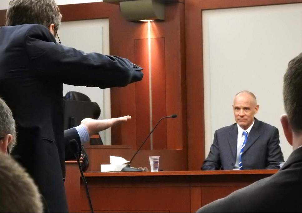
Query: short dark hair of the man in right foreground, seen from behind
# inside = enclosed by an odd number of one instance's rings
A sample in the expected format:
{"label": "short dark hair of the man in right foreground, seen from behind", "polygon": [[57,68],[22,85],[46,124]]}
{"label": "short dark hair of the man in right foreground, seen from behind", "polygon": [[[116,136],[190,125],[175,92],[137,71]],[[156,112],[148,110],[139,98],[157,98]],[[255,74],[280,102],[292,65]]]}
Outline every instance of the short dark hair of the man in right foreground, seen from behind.
{"label": "short dark hair of the man in right foreground, seen from behind", "polygon": [[294,132],[302,132],[302,53],[288,63],[283,79],[285,112]]}

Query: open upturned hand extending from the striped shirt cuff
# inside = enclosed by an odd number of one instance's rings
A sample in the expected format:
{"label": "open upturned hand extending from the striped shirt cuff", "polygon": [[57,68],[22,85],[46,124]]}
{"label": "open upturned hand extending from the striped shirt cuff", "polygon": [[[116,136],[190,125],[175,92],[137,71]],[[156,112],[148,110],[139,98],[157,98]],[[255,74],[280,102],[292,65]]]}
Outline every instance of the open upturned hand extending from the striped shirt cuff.
{"label": "open upturned hand extending from the striped shirt cuff", "polygon": [[110,118],[104,120],[85,118],[81,121],[81,125],[83,125],[87,129],[90,137],[93,134],[98,134],[100,131],[108,129],[116,124],[126,122],[127,120],[131,120],[131,116],[126,115],[119,118]]}

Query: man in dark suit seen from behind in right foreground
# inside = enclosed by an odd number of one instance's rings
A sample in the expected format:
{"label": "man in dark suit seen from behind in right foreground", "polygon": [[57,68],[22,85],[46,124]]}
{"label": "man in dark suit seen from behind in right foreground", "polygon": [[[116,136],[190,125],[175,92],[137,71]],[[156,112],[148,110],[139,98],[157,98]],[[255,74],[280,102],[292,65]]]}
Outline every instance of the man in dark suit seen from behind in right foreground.
{"label": "man in dark suit seen from behind in right foreground", "polygon": [[281,116],[293,152],[274,175],[216,200],[198,212],[300,212],[302,209],[302,53],[292,59],[284,75]]}

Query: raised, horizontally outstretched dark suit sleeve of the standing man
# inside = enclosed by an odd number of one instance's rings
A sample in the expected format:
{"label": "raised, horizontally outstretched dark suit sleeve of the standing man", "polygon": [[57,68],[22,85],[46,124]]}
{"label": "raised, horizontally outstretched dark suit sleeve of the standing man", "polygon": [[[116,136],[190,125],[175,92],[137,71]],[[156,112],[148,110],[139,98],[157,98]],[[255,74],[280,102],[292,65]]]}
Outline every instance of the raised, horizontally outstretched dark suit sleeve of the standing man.
{"label": "raised, horizontally outstretched dark suit sleeve of the standing man", "polygon": [[128,59],[66,47],[56,43],[42,25],[33,25],[25,37],[29,66],[40,79],[105,89],[123,87],[143,78],[142,68]]}

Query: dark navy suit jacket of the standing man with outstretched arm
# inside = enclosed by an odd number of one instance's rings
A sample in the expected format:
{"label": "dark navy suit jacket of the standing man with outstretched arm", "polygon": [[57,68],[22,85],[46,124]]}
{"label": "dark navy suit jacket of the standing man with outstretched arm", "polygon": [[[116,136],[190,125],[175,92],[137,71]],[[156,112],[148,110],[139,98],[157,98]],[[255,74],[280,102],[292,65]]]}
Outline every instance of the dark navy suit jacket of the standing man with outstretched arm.
{"label": "dark navy suit jacket of the standing man with outstretched arm", "polygon": [[67,211],[63,83],[125,86],[142,79],[141,68],[128,59],[56,43],[42,25],[1,27],[0,38],[0,96],[12,109],[18,132],[13,154],[24,160],[49,210]]}

